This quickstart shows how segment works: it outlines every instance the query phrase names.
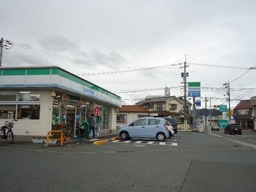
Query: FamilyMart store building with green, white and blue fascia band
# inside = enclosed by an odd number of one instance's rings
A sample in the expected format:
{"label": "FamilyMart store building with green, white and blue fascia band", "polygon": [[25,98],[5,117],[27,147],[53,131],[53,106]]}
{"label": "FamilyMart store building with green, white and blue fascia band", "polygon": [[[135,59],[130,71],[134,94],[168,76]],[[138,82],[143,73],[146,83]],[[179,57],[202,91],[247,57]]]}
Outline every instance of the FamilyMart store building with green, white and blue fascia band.
{"label": "FamilyMart store building with green, white and blue fascia band", "polygon": [[15,135],[45,136],[65,125],[77,137],[92,113],[99,132],[116,129],[121,97],[60,67],[1,67],[0,75],[0,124],[19,120]]}

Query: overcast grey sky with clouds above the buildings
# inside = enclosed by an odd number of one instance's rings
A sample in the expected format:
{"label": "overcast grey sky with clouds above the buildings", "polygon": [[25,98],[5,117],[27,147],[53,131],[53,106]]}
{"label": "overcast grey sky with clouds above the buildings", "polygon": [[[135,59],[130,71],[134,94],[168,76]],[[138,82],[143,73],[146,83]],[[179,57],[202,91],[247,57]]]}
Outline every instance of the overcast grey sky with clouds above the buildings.
{"label": "overcast grey sky with clouds above the buildings", "polygon": [[256,95],[254,0],[0,2],[3,67],[57,65],[134,104],[165,86],[184,95],[186,58],[203,106],[227,104],[228,81],[232,108]]}

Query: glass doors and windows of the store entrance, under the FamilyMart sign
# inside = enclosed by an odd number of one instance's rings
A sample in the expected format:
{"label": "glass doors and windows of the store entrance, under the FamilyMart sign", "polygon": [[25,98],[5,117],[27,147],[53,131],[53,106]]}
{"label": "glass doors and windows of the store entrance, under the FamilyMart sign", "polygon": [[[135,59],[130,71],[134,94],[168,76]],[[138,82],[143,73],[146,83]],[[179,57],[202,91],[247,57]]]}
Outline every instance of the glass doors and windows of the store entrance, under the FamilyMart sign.
{"label": "glass doors and windows of the store entrance, under the FamilyMart sign", "polygon": [[[80,126],[87,122],[88,116],[94,113],[95,108],[99,108],[99,114],[95,116],[97,122],[97,131],[109,129],[109,108],[90,104],[83,99],[70,95],[61,95],[57,93],[52,107],[52,127],[69,129],[70,137],[78,137]],[[59,128],[60,127],[60,128]]]}

